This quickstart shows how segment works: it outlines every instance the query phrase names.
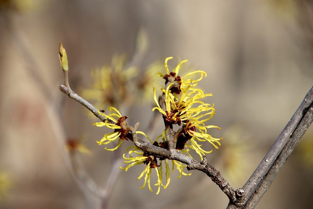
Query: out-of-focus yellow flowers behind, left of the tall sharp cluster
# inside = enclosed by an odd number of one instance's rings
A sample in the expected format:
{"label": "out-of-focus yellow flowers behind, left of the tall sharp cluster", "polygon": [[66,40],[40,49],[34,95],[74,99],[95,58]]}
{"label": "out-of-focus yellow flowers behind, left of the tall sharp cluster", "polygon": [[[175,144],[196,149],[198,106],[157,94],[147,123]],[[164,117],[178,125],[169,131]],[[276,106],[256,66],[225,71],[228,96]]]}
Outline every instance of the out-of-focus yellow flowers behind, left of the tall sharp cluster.
{"label": "out-of-focus yellow flowers behind, left of the tall sharp cluster", "polygon": [[[155,72],[162,66],[161,62],[153,62],[144,72],[128,63],[126,54],[116,54],[110,65],[93,69],[91,72],[93,83],[90,88],[82,91],[82,96],[97,101],[95,107],[100,109],[103,106],[130,106],[134,102],[142,104],[145,101],[152,101],[152,97],[148,95],[151,95],[153,84],[157,83],[155,80],[158,76]],[[131,85],[134,83],[136,84]],[[161,86],[161,83],[157,85]]]}

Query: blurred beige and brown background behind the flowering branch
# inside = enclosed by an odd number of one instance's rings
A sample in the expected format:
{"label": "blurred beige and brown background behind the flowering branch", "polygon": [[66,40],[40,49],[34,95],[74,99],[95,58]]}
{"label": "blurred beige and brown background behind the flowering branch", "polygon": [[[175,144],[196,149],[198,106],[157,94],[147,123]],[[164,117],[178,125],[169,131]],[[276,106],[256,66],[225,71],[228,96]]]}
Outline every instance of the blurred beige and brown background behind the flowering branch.
{"label": "blurred beige and brown background behind the flowering branch", "polygon": [[[132,54],[141,27],[150,44],[142,66],[174,56],[175,62],[189,59],[206,71],[208,77],[199,85],[214,94],[210,103],[217,114],[210,123],[222,131],[213,131],[213,136],[224,137],[208,160],[234,188],[244,185],[313,84],[313,18],[306,17],[312,15],[312,5],[305,5],[306,11],[291,1],[261,0],[34,2],[27,11],[1,10],[0,172],[9,173],[13,185],[0,208],[86,208],[60,150],[65,137],[88,139],[85,144],[93,155],[81,160],[99,185],[109,175],[113,153],[95,143],[105,132],[92,127],[97,120],[58,89],[63,82],[59,41],[67,51],[70,84],[77,93],[88,87],[95,66],[110,63],[116,52]],[[60,131],[54,105],[64,109],[66,133]],[[145,129],[151,106],[135,107],[132,114],[136,117],[130,123],[141,121]],[[303,140],[312,141],[312,136],[310,128]],[[240,155],[236,162],[225,157],[232,147]],[[301,153],[297,147],[256,208],[312,207],[313,167]],[[225,162],[237,163],[240,170],[229,171]],[[172,174],[169,187],[157,196],[138,189],[141,171],[121,172],[109,208],[228,204],[218,186],[198,171],[179,180]]]}

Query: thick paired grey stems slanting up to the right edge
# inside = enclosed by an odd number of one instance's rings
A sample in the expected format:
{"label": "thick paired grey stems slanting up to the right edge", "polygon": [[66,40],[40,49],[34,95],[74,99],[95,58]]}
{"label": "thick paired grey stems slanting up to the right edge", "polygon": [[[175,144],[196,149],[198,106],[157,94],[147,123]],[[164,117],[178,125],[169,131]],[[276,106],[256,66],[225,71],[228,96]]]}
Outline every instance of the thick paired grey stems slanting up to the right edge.
{"label": "thick paired grey stems slanting up to the right edge", "polygon": [[[295,114],[244,185],[243,189],[246,192],[246,196],[250,197],[246,206],[244,206],[245,209],[254,208],[268,190],[278,171],[312,123],[312,107],[313,87],[306,94]],[[230,203],[227,208],[239,209],[241,207],[234,206]]]}

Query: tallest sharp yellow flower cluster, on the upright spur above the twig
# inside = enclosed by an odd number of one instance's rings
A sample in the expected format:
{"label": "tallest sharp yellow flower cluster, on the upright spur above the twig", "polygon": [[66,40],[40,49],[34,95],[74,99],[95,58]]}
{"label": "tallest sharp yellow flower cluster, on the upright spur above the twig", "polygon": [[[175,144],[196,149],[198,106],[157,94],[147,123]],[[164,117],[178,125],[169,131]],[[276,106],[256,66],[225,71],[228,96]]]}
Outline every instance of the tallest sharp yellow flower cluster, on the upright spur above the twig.
{"label": "tallest sharp yellow flower cluster, on the upright spur above the twig", "polygon": [[[198,84],[198,81],[200,81],[203,76],[207,76],[207,74],[204,71],[198,70],[187,73],[187,75],[180,78],[177,76],[180,66],[182,63],[187,62],[187,60],[183,60],[177,65],[173,72],[169,72],[167,61],[172,58],[173,57],[168,57],[165,60],[165,69],[167,74],[163,75],[159,73],[160,76],[166,79],[167,84],[166,89],[161,89],[165,93],[166,110],[163,110],[160,107],[156,99],[156,92],[154,88],[154,99],[157,107],[153,108],[152,111],[158,110],[161,112],[165,120],[168,122],[178,125],[182,124],[183,133],[181,133],[177,138],[176,148],[191,156],[188,153],[188,149],[184,149],[184,146],[189,147],[195,150],[196,153],[199,154],[201,160],[203,160],[202,156],[205,155],[205,153],[211,153],[212,150],[203,150],[201,145],[199,145],[196,140],[200,142],[208,141],[215,148],[218,148],[216,144],[220,145],[219,140],[221,139],[213,138],[207,133],[208,128],[220,129],[218,126],[204,125],[204,122],[210,120],[215,114],[215,109],[213,107],[214,104],[211,106],[210,104],[206,104],[199,100],[207,96],[212,96],[213,94],[204,94],[201,89],[194,88]],[[193,74],[200,74],[200,78],[187,79]],[[178,87],[176,87],[177,85]],[[165,137],[162,137],[162,140],[164,142]]]}

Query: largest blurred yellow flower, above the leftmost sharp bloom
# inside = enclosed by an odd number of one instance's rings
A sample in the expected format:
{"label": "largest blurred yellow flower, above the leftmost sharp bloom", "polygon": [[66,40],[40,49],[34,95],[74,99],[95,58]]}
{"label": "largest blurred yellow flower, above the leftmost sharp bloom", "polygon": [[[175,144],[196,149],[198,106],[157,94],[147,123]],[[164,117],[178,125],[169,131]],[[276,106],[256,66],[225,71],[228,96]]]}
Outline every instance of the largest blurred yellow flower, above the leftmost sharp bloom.
{"label": "largest blurred yellow flower, above the leftmost sharp bloom", "polygon": [[131,100],[128,84],[137,76],[137,68],[126,68],[125,54],[113,56],[111,66],[103,66],[92,71],[93,84],[82,92],[85,99],[96,100],[96,107],[117,106]]}

